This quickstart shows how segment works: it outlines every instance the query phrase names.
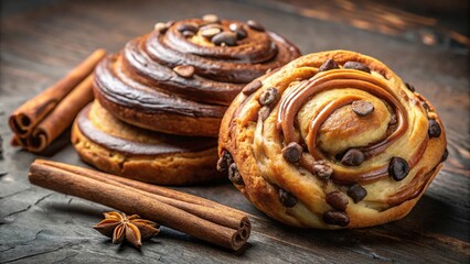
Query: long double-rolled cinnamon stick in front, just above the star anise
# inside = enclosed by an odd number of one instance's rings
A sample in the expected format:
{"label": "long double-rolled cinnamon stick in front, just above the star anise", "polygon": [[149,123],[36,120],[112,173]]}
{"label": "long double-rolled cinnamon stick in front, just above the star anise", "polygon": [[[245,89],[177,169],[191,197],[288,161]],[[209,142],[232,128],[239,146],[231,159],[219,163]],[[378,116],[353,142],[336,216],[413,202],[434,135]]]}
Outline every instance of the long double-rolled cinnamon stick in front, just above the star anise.
{"label": "long double-rolled cinnamon stick in front, just above the star anise", "polygon": [[[116,180],[117,177],[41,160],[36,160],[30,167],[32,184],[126,213],[137,213],[210,243],[239,250],[249,237],[250,222],[242,211],[232,208],[226,210],[228,207],[201,197],[159,187],[162,194],[173,196],[169,198],[128,186]],[[142,186],[146,185],[142,183]],[[192,197],[193,202],[185,201],[188,197]]]}

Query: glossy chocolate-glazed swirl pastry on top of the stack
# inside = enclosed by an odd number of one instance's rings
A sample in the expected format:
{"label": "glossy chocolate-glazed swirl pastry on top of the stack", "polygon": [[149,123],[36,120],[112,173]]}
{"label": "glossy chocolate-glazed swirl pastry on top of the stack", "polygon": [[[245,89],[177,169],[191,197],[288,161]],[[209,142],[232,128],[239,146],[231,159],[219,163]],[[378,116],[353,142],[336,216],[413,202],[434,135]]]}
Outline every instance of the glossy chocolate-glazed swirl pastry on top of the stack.
{"label": "glossy chocolate-glazed swirl pastry on top of the stack", "polygon": [[242,88],[299,51],[255,21],[215,15],[158,23],[104,59],[95,96],[118,119],[181,135],[217,136]]}

